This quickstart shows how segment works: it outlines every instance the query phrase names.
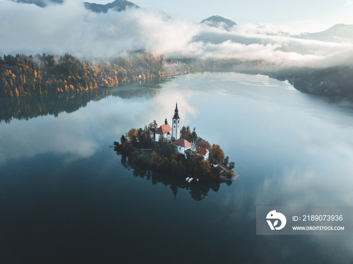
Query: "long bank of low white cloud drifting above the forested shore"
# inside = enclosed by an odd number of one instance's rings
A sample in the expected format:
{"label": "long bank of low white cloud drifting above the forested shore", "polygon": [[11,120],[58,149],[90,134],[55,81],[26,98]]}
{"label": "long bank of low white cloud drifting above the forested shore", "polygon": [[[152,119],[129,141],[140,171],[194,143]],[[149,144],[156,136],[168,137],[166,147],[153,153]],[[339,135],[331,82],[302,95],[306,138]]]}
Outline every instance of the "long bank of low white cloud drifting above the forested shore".
{"label": "long bank of low white cloud drifting above the forested shore", "polygon": [[230,30],[170,19],[143,9],[93,13],[82,3],[0,3],[0,52],[106,57],[144,49],[156,54],[199,58],[249,58],[296,65],[351,61],[353,43],[307,40],[272,25],[244,24]]}

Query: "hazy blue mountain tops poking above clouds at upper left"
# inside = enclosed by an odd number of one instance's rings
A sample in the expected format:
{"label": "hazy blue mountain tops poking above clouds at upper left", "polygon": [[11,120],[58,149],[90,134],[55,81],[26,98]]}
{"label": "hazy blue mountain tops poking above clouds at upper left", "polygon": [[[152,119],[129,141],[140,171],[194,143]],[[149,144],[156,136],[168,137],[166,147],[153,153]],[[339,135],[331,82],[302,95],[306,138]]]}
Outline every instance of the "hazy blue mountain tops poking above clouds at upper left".
{"label": "hazy blue mountain tops poking above clouds at upper left", "polygon": [[[64,1],[63,0],[17,0],[17,3],[34,4],[38,7],[44,8],[48,4],[63,4]],[[134,3],[131,3],[126,0],[115,0],[112,3],[108,3],[105,5],[85,2],[84,5],[86,9],[95,13],[101,13],[101,12],[106,13],[108,12],[108,10],[121,12],[126,10],[126,8],[140,8]]]}

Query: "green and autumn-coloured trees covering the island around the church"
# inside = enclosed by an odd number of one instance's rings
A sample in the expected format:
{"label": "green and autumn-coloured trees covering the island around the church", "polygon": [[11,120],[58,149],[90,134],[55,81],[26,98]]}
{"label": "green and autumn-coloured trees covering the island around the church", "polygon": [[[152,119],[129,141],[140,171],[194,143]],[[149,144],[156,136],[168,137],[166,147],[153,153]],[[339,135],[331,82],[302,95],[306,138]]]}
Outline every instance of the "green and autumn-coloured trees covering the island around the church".
{"label": "green and autumn-coloured trees covering the island around the church", "polygon": [[207,141],[199,138],[195,128],[191,131],[190,127],[183,126],[181,129],[181,138],[195,141],[197,146],[209,149],[210,160],[204,161],[202,156],[195,153],[187,154],[187,158],[183,154],[177,152],[177,148],[171,142],[160,137],[159,142],[151,141],[148,131],[155,131],[158,128],[154,120],[144,128],[132,128],[124,136],[122,135],[119,142],[114,142],[114,150],[117,155],[122,156],[122,164],[126,168],[156,170],[172,174],[178,177],[186,177],[187,175],[199,178],[203,181],[224,181],[224,177],[231,178],[232,173],[222,174],[221,168],[213,166],[214,159],[228,166],[229,169],[234,168],[234,162],[229,162],[229,157],[224,157],[224,152],[219,145],[212,146]]}

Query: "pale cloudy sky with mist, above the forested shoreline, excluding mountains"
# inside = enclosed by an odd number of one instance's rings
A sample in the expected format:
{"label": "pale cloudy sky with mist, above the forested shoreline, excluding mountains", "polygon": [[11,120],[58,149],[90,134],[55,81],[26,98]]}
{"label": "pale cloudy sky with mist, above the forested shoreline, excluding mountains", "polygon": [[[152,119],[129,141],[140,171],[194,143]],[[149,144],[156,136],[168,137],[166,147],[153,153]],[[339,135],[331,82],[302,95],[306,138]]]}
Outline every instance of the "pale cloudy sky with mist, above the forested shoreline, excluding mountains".
{"label": "pale cloudy sky with mist, above the forested shoreline, excluding mountains", "polygon": [[[98,1],[105,4],[109,0]],[[323,31],[338,23],[353,24],[353,0],[134,3],[142,9],[97,14],[85,9],[80,0],[45,8],[0,2],[0,54],[70,53],[105,58],[142,49],[167,57],[257,59],[314,67],[353,61],[353,27],[325,39],[295,35]],[[200,24],[215,14],[238,25],[227,29],[222,24]]]}

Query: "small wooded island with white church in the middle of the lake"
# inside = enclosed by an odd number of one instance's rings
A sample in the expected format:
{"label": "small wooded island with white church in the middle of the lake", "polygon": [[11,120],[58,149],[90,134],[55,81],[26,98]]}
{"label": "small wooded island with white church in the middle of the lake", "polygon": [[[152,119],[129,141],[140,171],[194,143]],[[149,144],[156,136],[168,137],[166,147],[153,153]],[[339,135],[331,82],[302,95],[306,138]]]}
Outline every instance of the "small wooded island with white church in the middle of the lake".
{"label": "small wooded island with white church in the middle of the lake", "polygon": [[195,128],[181,128],[180,120],[176,103],[171,126],[165,118],[161,126],[153,120],[144,128],[132,128],[120,143],[114,142],[114,150],[126,167],[158,170],[188,182],[238,179],[234,162],[224,157],[220,146],[198,137]]}

